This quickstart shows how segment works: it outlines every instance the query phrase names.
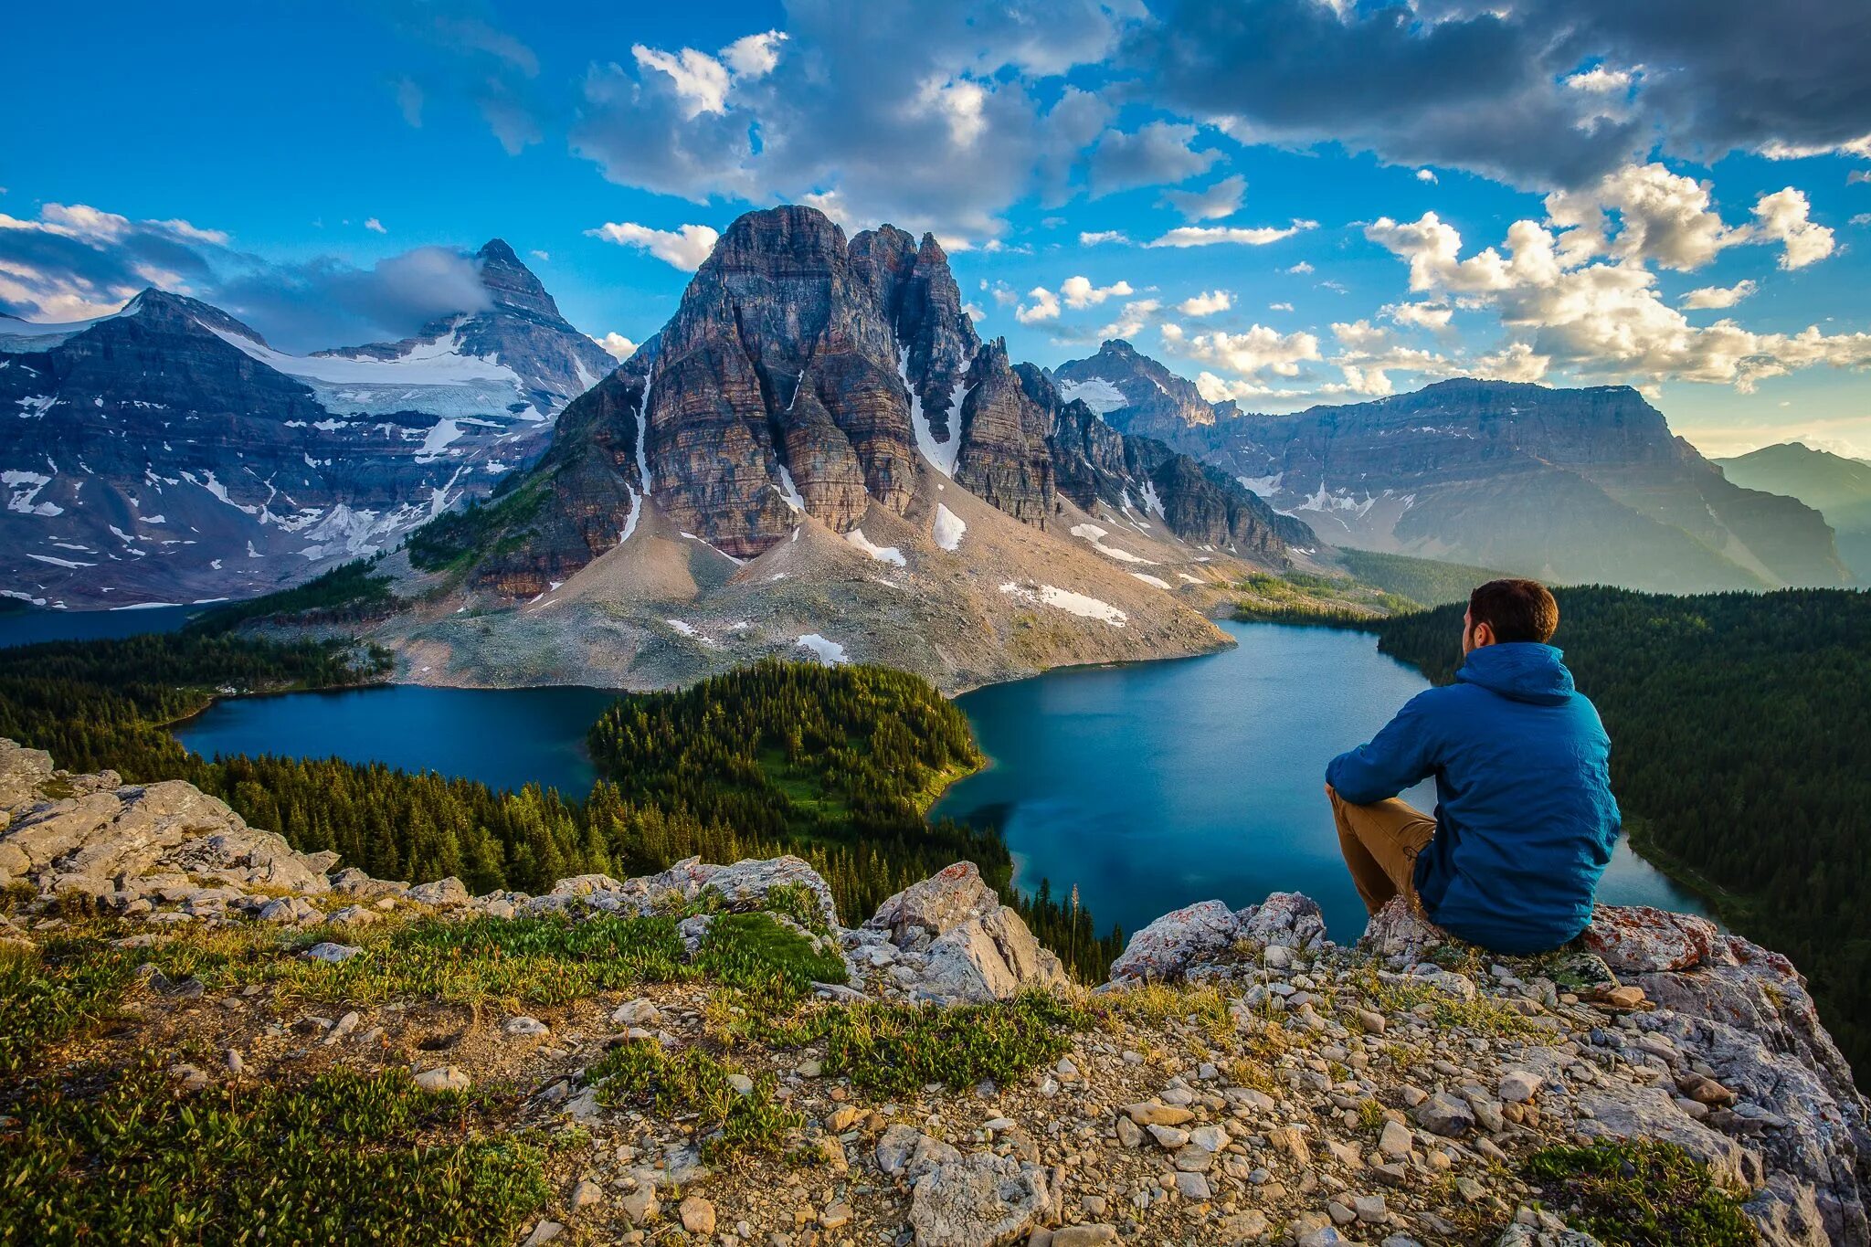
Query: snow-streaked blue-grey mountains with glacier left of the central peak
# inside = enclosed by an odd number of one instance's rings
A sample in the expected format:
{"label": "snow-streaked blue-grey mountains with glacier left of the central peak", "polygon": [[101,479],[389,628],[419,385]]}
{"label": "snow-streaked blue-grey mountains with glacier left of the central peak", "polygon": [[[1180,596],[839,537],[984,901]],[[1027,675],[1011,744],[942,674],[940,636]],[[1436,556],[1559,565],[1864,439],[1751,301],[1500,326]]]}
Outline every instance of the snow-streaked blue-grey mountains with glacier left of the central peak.
{"label": "snow-streaked blue-grey mountains with glacier left of the central peak", "polygon": [[249,596],[393,546],[535,458],[612,361],[505,243],[490,307],[406,342],[275,351],[146,290],[0,323],[0,591],[69,608]]}

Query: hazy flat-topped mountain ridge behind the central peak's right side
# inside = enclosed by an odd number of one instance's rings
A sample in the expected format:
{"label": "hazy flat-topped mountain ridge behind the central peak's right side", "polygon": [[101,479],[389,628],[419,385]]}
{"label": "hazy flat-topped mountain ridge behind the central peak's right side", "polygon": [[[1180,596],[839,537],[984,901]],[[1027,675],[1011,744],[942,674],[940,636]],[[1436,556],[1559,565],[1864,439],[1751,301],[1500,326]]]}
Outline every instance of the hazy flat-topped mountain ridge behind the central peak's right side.
{"label": "hazy flat-topped mountain ridge behind the central peak's right side", "polygon": [[1055,376],[1123,398],[1104,413],[1115,426],[1147,424],[1332,544],[1667,593],[1850,581],[1813,509],[1731,482],[1624,385],[1452,380],[1199,419],[1158,370],[1108,342]]}

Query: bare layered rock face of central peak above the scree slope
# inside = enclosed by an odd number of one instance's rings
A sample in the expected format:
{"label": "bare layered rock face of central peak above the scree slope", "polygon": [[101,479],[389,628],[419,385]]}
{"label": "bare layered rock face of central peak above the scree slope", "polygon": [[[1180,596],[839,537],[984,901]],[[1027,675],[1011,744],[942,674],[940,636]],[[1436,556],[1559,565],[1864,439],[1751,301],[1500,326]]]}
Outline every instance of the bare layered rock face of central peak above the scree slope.
{"label": "bare layered rock face of central peak above the scree slope", "polygon": [[[1055,436],[1059,394],[1005,342],[977,338],[934,237],[883,226],[848,243],[810,208],[747,213],[653,342],[567,409],[529,477],[554,501],[509,527],[471,583],[529,598],[621,544],[640,507],[745,561],[793,540],[803,518],[846,535],[874,505],[909,516],[921,482],[1057,529],[1061,495],[1128,507],[1128,484],[1141,509],[1160,477],[1158,518],[1179,537],[1276,565],[1312,542],[1227,477],[1160,443],[1126,449],[1083,408]],[[642,456],[589,454],[591,439]],[[1124,467],[1087,473],[1089,439]],[[1078,492],[1061,490],[1068,473]]]}

